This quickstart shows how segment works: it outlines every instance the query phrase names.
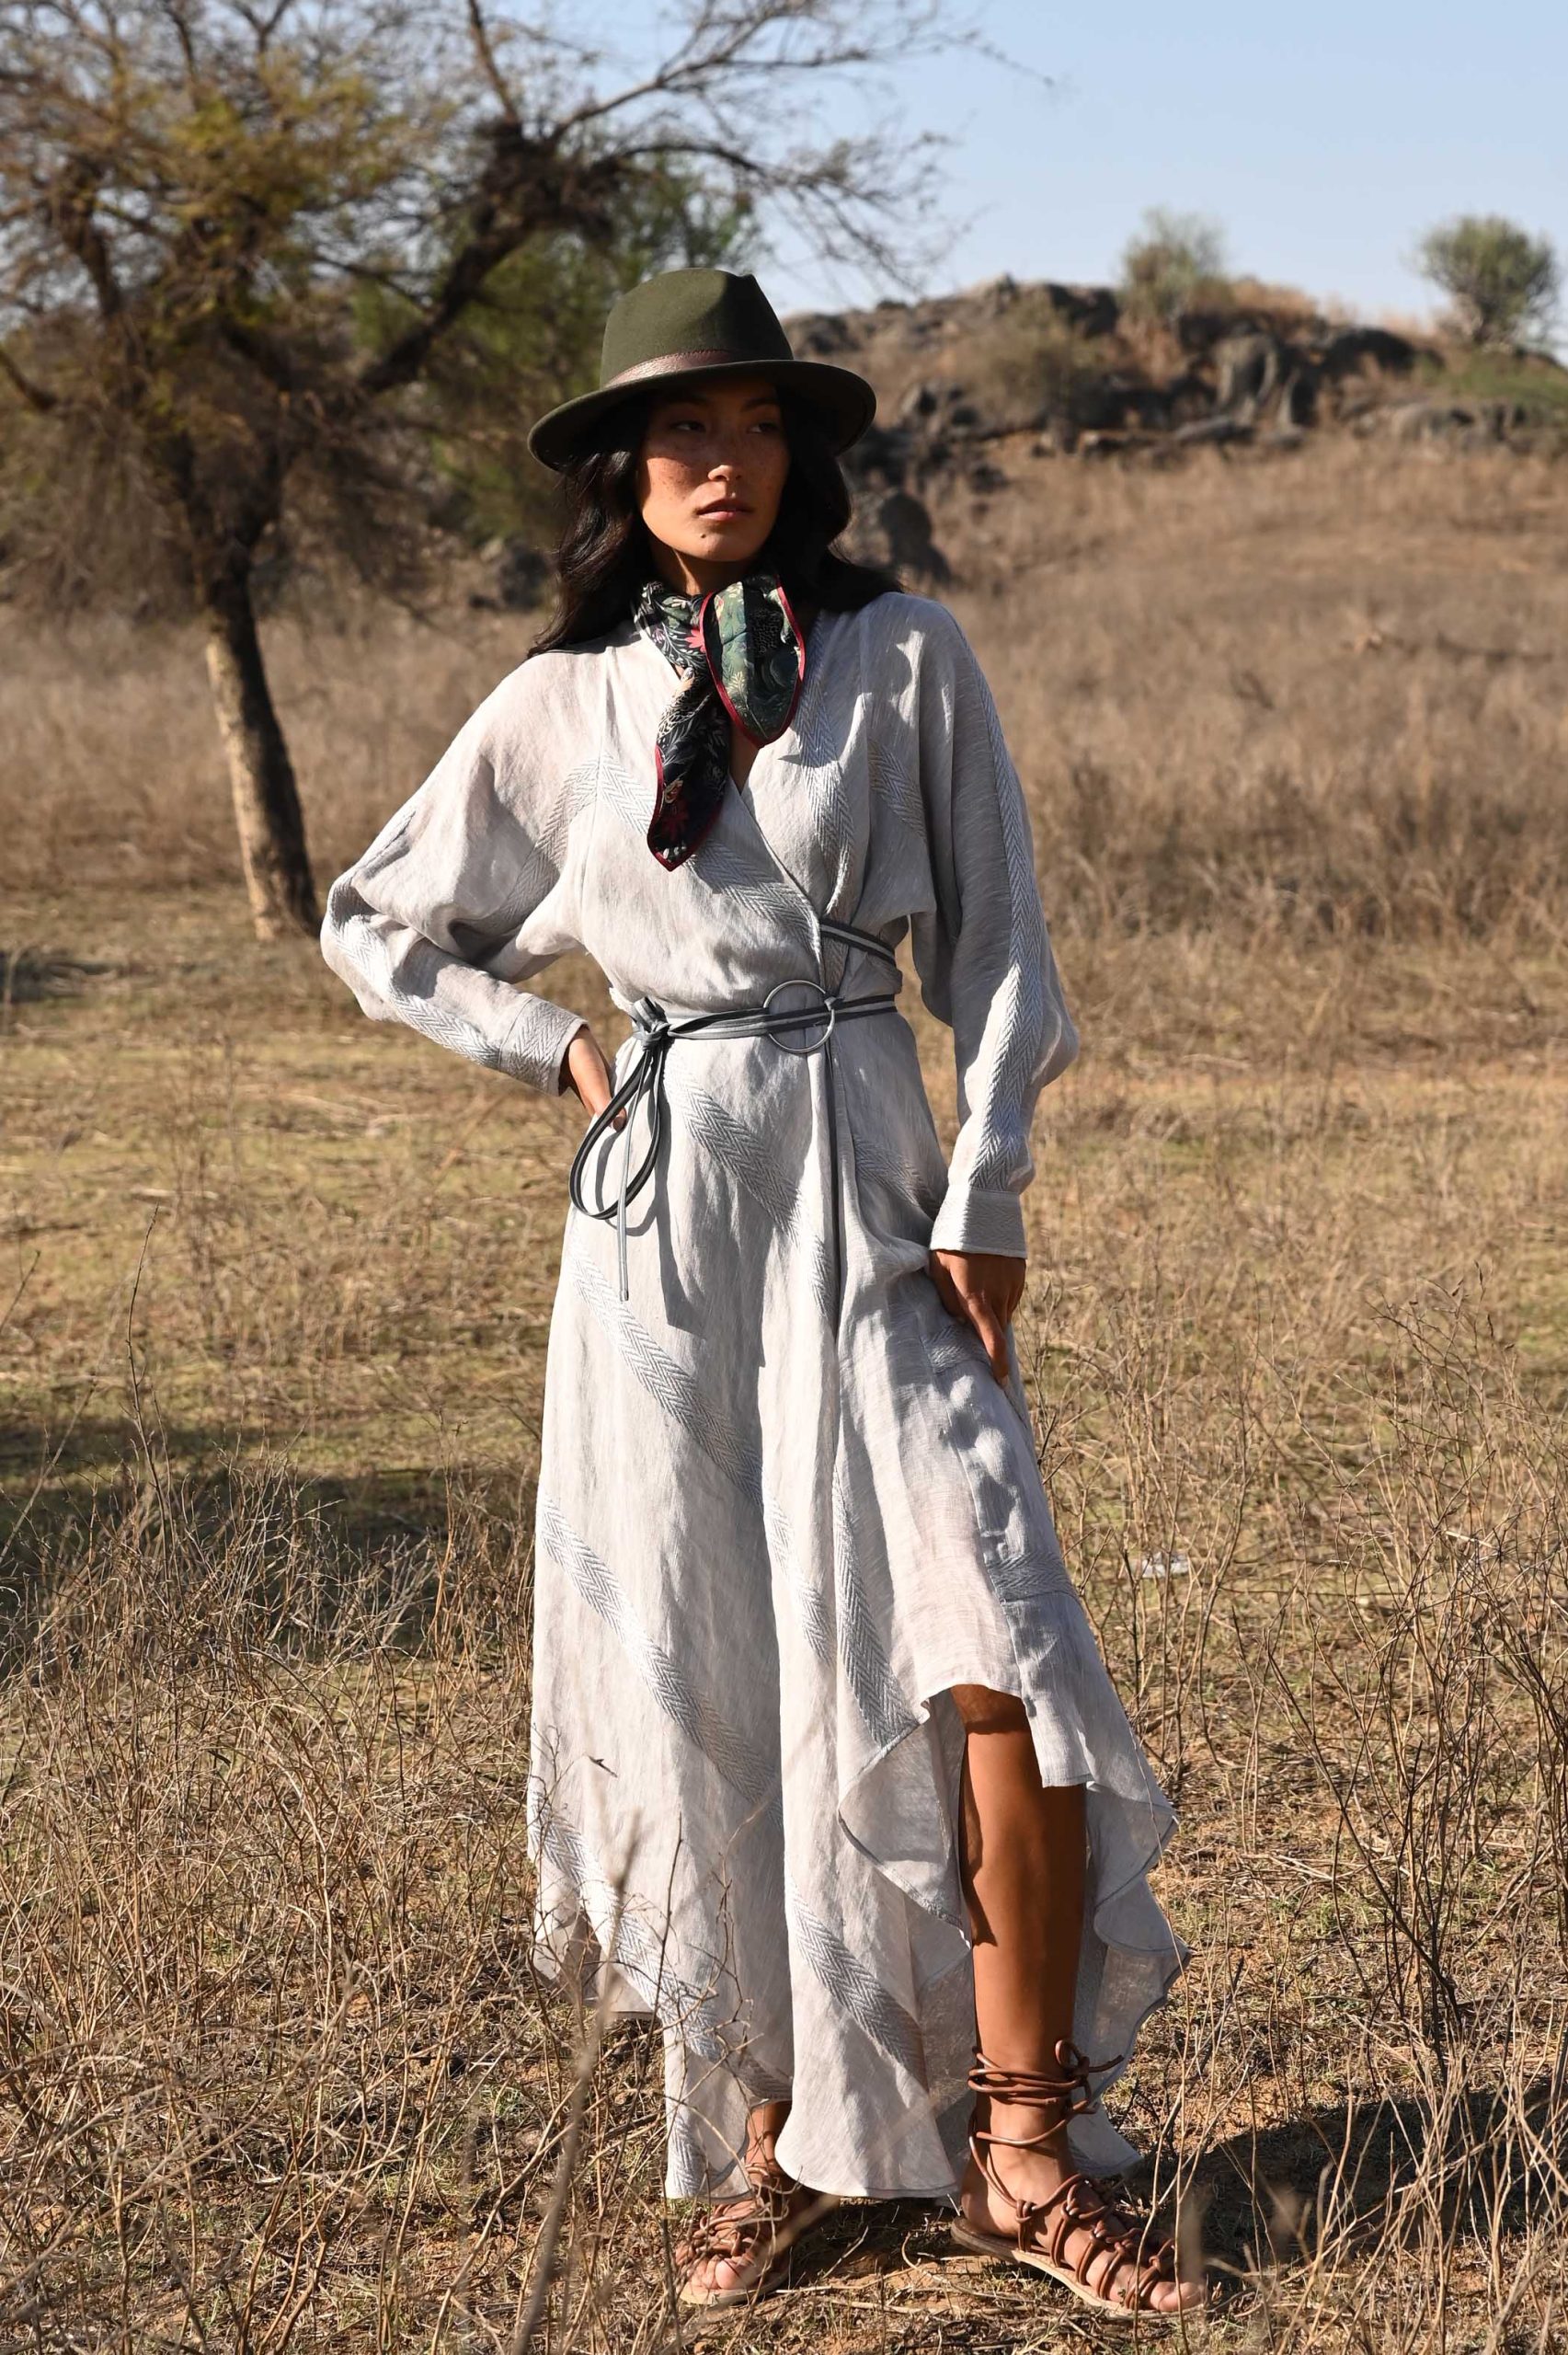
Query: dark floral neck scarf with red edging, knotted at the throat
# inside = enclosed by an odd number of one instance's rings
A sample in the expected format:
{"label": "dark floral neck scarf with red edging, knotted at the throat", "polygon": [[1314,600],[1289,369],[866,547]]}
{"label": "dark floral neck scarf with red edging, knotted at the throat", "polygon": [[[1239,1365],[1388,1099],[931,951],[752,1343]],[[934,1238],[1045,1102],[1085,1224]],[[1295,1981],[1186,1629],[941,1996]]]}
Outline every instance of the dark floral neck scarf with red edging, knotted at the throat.
{"label": "dark floral neck scarf with red edging, knotted at the throat", "polygon": [[768,570],[706,596],[647,579],[631,617],[680,671],[655,737],[659,791],[647,827],[647,848],[673,869],[723,808],[730,721],[753,744],[772,744],[789,728],[805,678],[805,636],[779,575]]}

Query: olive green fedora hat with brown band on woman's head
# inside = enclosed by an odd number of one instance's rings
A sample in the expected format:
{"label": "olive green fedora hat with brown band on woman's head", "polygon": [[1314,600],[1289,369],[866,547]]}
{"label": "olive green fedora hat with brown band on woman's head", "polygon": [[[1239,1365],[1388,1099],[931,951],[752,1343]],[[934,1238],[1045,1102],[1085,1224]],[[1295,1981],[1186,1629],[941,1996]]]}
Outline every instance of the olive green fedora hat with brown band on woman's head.
{"label": "olive green fedora hat with brown band on woman's head", "polygon": [[866,431],[876,391],[852,367],[796,360],[779,318],[749,271],[659,271],[629,287],[605,320],[598,391],[563,400],[530,429],[527,447],[560,471],[607,410],[650,386],[687,377],[765,374],[822,414],[833,450]]}

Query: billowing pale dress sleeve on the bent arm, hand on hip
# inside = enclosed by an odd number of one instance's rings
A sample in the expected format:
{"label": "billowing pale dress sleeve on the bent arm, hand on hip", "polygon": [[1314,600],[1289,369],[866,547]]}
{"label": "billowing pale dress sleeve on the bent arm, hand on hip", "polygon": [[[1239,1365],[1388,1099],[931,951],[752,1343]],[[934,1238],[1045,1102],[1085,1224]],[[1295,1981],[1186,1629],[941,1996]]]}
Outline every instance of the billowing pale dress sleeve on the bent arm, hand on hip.
{"label": "billowing pale dress sleeve on the bent arm, hand on hip", "polygon": [[320,947],[372,1022],[407,1022],[556,1095],[586,1017],[513,982],[582,947],[572,848],[577,822],[591,824],[593,765],[551,770],[560,723],[546,725],[527,669],[337,878]]}

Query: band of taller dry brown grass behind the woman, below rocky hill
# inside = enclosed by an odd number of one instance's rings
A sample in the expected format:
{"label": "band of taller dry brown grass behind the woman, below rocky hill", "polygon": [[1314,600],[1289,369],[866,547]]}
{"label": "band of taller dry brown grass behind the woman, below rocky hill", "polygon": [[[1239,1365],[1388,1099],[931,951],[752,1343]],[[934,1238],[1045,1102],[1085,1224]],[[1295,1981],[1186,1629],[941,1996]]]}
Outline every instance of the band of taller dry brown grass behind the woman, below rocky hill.
{"label": "band of taller dry brown grass behind the woman, below rocky hill", "polygon": [[[1568,885],[1563,473],[1358,443],[1144,473],[1012,464],[937,537],[1069,933],[1556,944]],[[1019,619],[1022,617],[1022,619]],[[518,662],[525,617],[323,605],[273,666],[323,869]],[[92,624],[0,674],[9,885],[228,881],[200,648]]]}

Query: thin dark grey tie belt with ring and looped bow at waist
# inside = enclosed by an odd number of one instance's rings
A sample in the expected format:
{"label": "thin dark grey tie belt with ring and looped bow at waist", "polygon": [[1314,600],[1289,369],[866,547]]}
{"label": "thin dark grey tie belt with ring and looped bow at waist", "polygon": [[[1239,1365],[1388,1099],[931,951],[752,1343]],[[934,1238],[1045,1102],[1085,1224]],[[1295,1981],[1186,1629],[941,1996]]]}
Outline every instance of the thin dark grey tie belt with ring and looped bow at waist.
{"label": "thin dark grey tie belt with ring and looped bow at waist", "polygon": [[[855,942],[855,947],[871,949],[897,973],[897,956],[885,940],[876,933],[862,933],[852,923],[836,923],[829,916],[819,916],[817,926],[822,933],[831,933],[833,940]],[[775,999],[784,989],[812,989],[817,996],[815,1006],[784,1010],[775,1008]],[[671,1046],[680,1039],[772,1039],[777,1048],[786,1055],[817,1055],[826,1053],[826,1102],[829,1102],[829,1161],[833,1168],[833,1316],[838,1316],[838,1305],[843,1298],[843,1215],[841,1215],[841,1182],[838,1182],[838,1104],[833,1088],[833,1029],[838,1022],[857,1020],[859,1015],[881,1015],[897,1006],[897,991],[876,991],[873,996],[843,996],[838,989],[829,989],[817,975],[800,975],[800,980],[775,982],[768,996],[756,1006],[727,1006],[723,1013],[713,1015],[687,1015],[680,1022],[671,1022],[657,999],[643,999],[633,1015],[633,1034],[640,1039],[640,1053],[629,1069],[626,1079],[619,1083],[603,1112],[598,1112],[584,1133],[582,1145],[572,1156],[572,1175],[567,1178],[567,1192],[572,1196],[572,1208],[582,1210],[586,1218],[612,1218],[619,1248],[619,1272],[622,1272],[622,1300],[629,1298],[626,1288],[626,1203],[633,1201],[647,1185],[659,1159],[659,1142],[664,1137],[664,1057]],[[779,1036],[782,1031],[815,1031],[800,1041],[798,1036]],[[631,1168],[631,1128],[638,1116],[638,1104],[647,1097],[647,1152]],[[584,1170],[589,1166],[589,1154],[598,1140],[612,1128],[617,1112],[626,1114],[626,1126],[622,1130],[622,1175],[617,1196],[610,1203],[591,1203],[584,1196]]]}

